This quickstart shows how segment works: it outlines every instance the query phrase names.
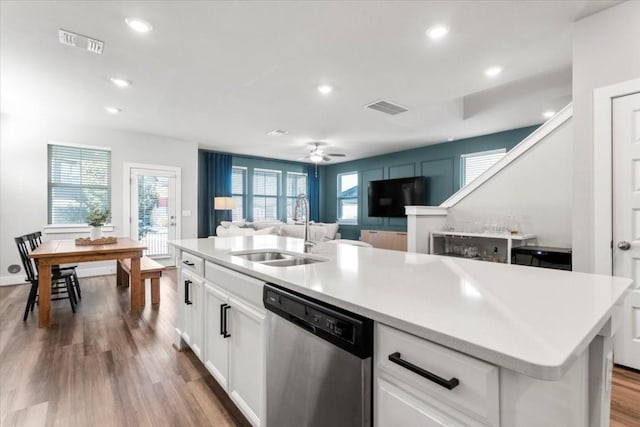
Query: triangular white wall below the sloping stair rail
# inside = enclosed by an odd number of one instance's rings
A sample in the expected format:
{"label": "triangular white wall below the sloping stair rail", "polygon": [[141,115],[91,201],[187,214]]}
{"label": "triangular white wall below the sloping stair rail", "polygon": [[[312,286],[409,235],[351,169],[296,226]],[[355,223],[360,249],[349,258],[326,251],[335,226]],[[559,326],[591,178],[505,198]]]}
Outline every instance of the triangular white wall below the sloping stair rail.
{"label": "triangular white wall below the sloping stair rail", "polygon": [[456,223],[516,215],[542,246],[571,247],[572,121],[449,208]]}

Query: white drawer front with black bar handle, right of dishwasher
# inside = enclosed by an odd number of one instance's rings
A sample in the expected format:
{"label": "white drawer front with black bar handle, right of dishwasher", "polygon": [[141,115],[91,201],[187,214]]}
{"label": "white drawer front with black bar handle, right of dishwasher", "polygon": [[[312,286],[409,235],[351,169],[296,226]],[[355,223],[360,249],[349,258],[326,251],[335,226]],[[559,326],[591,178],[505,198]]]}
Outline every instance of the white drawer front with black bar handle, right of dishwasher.
{"label": "white drawer front with black bar handle, right of dishwasher", "polygon": [[[499,425],[498,367],[376,323],[375,370],[379,377],[391,377],[394,382],[407,384],[485,425]],[[390,360],[399,357],[414,367],[458,384],[451,390],[419,375],[410,366]]]}

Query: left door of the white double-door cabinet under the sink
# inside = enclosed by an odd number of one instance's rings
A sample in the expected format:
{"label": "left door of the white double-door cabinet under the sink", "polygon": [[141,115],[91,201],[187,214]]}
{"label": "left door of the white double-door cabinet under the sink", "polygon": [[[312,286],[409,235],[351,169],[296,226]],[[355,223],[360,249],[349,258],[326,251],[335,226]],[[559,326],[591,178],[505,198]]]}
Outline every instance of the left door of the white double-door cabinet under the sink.
{"label": "left door of the white double-door cabinet under the sink", "polygon": [[223,336],[223,316],[227,304],[229,295],[209,282],[204,283],[204,365],[225,391],[228,391],[229,339]]}

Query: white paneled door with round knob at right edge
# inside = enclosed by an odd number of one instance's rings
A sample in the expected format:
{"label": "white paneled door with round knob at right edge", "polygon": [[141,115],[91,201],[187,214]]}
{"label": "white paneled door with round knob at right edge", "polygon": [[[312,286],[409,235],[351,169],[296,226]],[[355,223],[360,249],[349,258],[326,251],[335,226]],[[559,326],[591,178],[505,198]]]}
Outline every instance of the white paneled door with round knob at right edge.
{"label": "white paneled door with round knob at right edge", "polygon": [[640,93],[613,100],[613,274],[634,280],[615,363],[640,369]]}

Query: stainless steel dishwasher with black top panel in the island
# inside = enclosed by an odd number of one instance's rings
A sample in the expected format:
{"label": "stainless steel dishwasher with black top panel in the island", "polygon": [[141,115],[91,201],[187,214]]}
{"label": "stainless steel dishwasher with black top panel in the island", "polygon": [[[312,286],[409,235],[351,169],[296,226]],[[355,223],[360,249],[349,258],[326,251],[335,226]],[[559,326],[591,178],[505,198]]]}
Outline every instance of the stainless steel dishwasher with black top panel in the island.
{"label": "stainless steel dishwasher with black top panel in the island", "polygon": [[263,300],[267,426],[371,426],[371,319],[271,284]]}

